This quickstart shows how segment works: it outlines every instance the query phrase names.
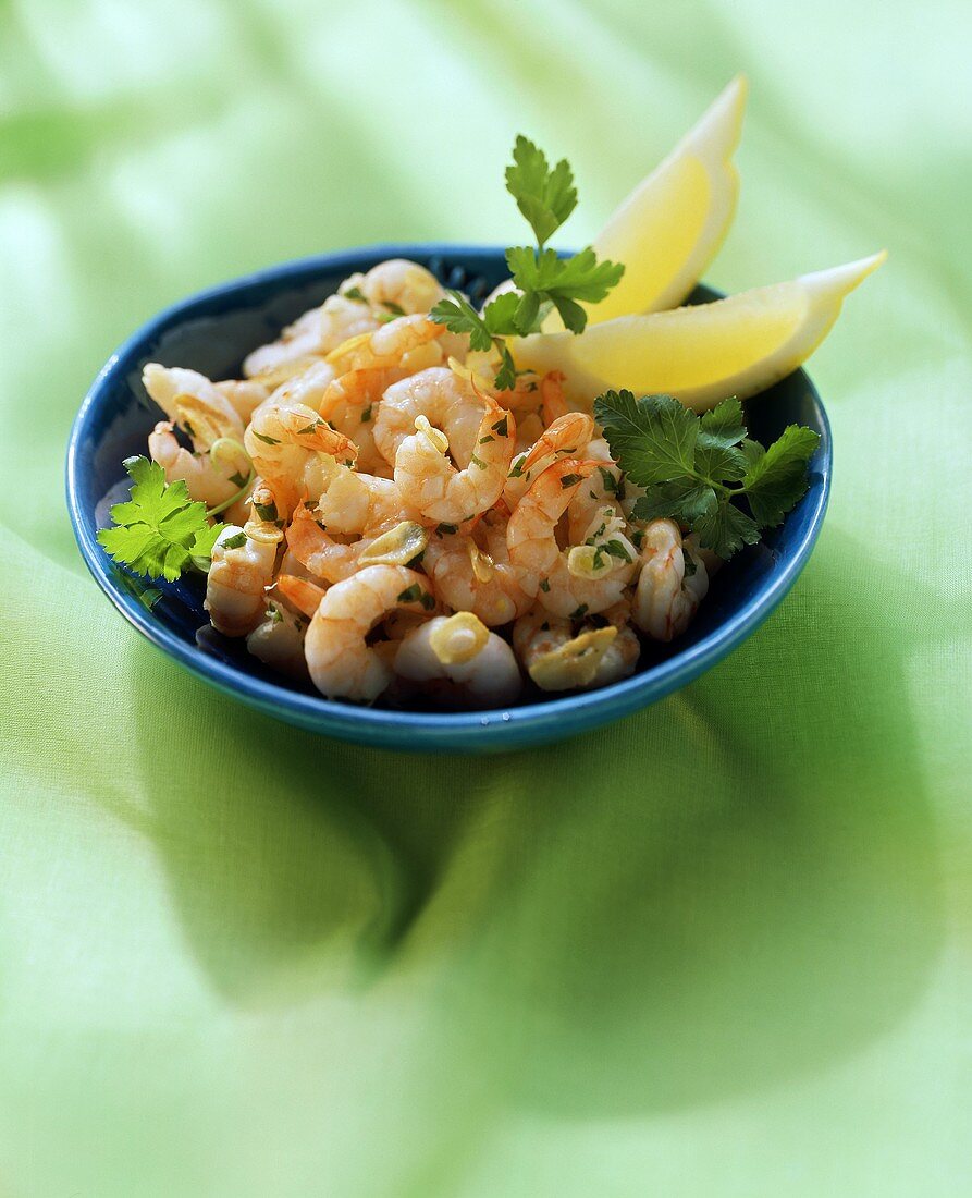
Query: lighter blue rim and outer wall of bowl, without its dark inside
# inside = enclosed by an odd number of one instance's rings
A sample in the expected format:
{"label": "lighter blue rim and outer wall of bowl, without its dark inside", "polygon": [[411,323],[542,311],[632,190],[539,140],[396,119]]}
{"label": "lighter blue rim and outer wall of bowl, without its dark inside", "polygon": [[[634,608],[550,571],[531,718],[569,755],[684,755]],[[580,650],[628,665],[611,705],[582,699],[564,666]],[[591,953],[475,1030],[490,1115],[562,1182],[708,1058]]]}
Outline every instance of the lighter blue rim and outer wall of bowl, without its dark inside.
{"label": "lighter blue rim and outer wall of bowl, without its dark inside", "polygon": [[[67,509],[81,557],[95,581],[128,623],[190,673],[266,714],[348,740],[420,751],[468,749],[473,737],[479,742],[479,746],[514,748],[516,744],[541,742],[548,736],[561,737],[570,734],[571,731],[579,732],[595,727],[663,698],[699,677],[742,643],[776,610],[796,582],[820,534],[830,500],[833,458],[830,420],[816,388],[802,369],[795,373],[803,375],[820,423],[820,446],[813,459],[812,485],[802,501],[812,500],[813,507],[802,538],[795,549],[790,550],[788,559],[773,577],[760,586],[755,594],[711,633],[666,661],[597,690],[572,691],[559,698],[526,703],[521,707],[474,712],[409,712],[339,703],[323,696],[291,690],[285,682],[275,683],[245,674],[198,646],[186,645],[156,619],[138,599],[119,586],[108,555],[98,545],[91,531],[93,524],[91,514],[80,503],[80,449],[87,424],[104,403],[116,375],[127,373],[134,359],[144,356],[141,347],[147,341],[158,337],[166,327],[192,319],[193,315],[202,311],[211,315],[211,307],[217,301],[239,298],[242,292],[262,289],[281,280],[312,283],[316,274],[366,270],[367,265],[385,258],[418,255],[429,259],[441,255],[469,261],[476,258],[493,259],[496,255],[502,256],[503,253],[500,247],[494,246],[381,243],[330,254],[315,254],[194,292],[162,309],[136,328],[111,353],[85,394],[72,423],[65,471]],[[363,264],[367,265],[363,267]],[[712,288],[706,290],[713,291]],[[569,725],[575,727],[571,728]]]}

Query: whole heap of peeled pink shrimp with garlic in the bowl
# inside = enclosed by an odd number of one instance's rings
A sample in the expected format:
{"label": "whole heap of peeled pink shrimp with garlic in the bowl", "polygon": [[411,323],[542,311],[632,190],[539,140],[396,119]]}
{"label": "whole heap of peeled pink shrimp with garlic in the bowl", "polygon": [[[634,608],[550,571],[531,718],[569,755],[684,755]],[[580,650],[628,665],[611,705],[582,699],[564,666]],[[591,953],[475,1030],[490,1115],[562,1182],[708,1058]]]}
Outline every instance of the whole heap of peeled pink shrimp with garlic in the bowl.
{"label": "whole heap of peeled pink shrimp with garlic in the bowl", "polygon": [[429,319],[405,260],[255,350],[242,380],[152,363],[148,452],[219,534],[206,610],[329,698],[514,703],[527,684],[631,674],[688,625],[718,561],[626,485],[559,374],[497,391],[496,363]]}

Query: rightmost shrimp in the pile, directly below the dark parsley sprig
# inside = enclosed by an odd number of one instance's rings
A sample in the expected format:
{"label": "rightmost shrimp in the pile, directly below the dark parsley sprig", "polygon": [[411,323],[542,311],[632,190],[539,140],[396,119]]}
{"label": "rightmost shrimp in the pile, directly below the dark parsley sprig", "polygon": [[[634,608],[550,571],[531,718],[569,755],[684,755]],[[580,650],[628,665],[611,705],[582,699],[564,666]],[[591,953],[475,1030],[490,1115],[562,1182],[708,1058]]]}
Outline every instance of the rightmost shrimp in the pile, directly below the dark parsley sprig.
{"label": "rightmost shrimp in the pile, directly below the dark parsley sprig", "polygon": [[[634,588],[634,623],[656,641],[672,641],[692,622],[709,591],[709,571],[692,538],[682,541],[673,520],[644,531],[642,573]],[[694,564],[694,570],[687,567]]]}

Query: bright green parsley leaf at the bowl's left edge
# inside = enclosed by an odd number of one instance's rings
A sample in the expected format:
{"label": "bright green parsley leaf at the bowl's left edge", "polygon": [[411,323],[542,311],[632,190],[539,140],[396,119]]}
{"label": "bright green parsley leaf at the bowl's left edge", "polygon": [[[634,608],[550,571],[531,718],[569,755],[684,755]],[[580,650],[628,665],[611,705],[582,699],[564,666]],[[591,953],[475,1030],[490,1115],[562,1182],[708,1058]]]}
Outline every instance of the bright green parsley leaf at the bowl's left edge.
{"label": "bright green parsley leaf at the bowl's left edge", "polygon": [[122,565],[148,579],[182,574],[190,562],[212,556],[225,525],[209,525],[205,503],[193,501],[181,479],[165,482],[165,471],[147,458],[127,458],[133,486],[124,503],[111,508],[114,528],[102,528],[98,544]]}

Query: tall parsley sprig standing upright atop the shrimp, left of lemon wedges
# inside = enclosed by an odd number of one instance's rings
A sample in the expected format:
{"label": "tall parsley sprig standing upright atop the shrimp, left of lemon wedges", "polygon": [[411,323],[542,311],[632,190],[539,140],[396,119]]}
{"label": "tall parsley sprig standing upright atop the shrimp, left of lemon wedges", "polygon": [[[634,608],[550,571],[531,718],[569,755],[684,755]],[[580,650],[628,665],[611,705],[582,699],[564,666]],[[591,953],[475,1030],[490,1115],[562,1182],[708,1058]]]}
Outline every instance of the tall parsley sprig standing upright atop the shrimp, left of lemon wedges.
{"label": "tall parsley sprig standing upright atop the shrimp, left of lemon wedges", "polygon": [[551,169],[547,157],[522,134],[514,146],[514,162],[506,168],[506,190],[534,231],[536,248],[512,246],[506,250],[516,291],[504,291],[479,313],[458,291],[442,300],[430,313],[433,321],[452,333],[468,333],[473,350],[494,349],[500,367],[496,385],[500,391],[516,386],[516,364],[506,345],[508,337],[537,333],[552,309],[564,327],[582,333],[588,314],[584,303],[599,303],[624,274],[620,262],[599,262],[588,247],[573,258],[560,258],[547,249],[549,237],[577,206],[577,188],[566,158]]}

